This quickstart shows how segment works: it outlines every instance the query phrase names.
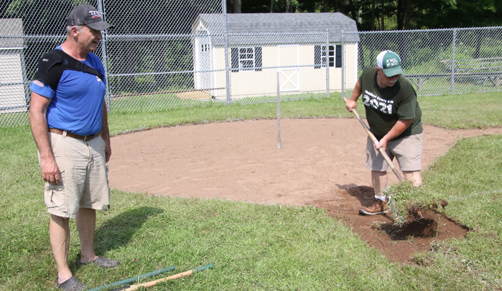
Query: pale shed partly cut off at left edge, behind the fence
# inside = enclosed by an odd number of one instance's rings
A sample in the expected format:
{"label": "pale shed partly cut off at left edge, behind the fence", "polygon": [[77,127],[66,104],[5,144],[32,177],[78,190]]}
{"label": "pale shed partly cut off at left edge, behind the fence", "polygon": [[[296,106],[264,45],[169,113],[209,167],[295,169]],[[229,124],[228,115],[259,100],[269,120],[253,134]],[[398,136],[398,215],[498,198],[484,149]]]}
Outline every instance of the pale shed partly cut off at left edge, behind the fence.
{"label": "pale shed partly cut off at left edge, behind the fence", "polygon": [[28,110],[23,21],[0,19],[0,113]]}

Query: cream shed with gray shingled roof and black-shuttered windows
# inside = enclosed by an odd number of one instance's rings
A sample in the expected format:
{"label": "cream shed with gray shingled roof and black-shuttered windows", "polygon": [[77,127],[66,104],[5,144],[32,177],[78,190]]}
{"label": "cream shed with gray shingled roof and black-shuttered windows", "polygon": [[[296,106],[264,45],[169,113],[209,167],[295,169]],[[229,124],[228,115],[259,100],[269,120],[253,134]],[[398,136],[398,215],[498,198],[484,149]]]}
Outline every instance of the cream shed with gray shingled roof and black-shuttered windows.
{"label": "cream shed with gray shingled roof and black-shuttered windows", "polygon": [[[228,14],[230,94],[272,95],[277,92],[277,72],[282,92],[326,92],[326,59],[329,89],[342,88],[342,31],[357,31],[354,20],[341,13]],[[328,35],[326,38],[326,30]],[[213,98],[226,94],[223,15],[200,14],[192,26],[194,85]],[[344,39],[344,66],[354,68],[346,88],[357,80],[356,34]],[[326,42],[328,41],[328,57]]]}

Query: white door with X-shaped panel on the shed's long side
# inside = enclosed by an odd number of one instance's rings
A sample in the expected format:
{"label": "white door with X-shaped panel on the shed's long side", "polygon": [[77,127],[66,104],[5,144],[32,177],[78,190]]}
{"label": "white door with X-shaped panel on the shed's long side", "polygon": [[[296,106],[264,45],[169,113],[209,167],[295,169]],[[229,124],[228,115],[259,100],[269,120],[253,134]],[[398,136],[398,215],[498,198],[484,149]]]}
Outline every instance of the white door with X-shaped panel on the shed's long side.
{"label": "white door with X-shaped panel on the shed's long side", "polygon": [[300,90],[300,46],[277,47],[279,84],[281,92]]}

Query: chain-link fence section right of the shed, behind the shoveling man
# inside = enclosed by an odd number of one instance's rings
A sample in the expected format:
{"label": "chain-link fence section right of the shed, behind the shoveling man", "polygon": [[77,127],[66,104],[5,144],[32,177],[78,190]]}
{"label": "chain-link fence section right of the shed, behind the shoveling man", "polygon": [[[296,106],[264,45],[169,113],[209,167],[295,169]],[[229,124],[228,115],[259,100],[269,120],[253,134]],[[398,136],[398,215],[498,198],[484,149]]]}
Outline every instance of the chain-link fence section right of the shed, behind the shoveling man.
{"label": "chain-link fence section right of the shed, behind the shoveling man", "polygon": [[[352,34],[360,38],[359,63],[346,66],[347,72],[357,70],[359,75],[376,66],[381,51],[391,50],[401,57],[404,75],[419,96],[502,90],[502,27],[347,32],[346,36]],[[352,89],[347,87],[345,96]]]}

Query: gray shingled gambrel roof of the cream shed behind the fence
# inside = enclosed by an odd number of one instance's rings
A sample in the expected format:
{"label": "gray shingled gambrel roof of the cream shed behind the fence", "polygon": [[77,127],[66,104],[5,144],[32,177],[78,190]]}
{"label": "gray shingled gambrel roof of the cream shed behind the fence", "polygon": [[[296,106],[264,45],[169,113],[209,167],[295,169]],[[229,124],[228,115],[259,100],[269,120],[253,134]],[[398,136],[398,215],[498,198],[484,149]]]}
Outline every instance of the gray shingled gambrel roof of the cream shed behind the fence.
{"label": "gray shingled gambrel roof of the cream shed behind the fence", "polygon": [[[213,45],[222,45],[223,39],[223,15],[201,14],[194,26],[201,23],[208,29]],[[241,13],[227,14],[227,31],[230,34],[229,44],[287,44],[323,42],[320,36],[312,35],[289,35],[289,36],[232,36],[232,34],[294,34],[329,31],[329,42],[341,42],[341,31],[357,31],[355,21],[341,13]],[[346,42],[358,42],[357,35],[349,35]]]}

